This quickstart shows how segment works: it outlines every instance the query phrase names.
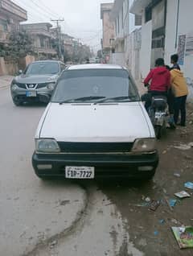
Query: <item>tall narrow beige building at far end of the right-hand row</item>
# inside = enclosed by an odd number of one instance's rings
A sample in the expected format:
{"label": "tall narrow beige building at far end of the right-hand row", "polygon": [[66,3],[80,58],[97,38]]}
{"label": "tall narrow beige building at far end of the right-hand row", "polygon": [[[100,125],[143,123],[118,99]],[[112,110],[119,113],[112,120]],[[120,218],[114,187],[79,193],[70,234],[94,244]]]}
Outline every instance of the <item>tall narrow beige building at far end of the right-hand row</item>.
{"label": "tall narrow beige building at far end of the right-hand row", "polygon": [[110,53],[113,51],[115,39],[115,23],[110,19],[110,13],[113,9],[113,3],[101,4],[101,19],[103,27],[103,38],[101,39],[101,47],[105,60],[109,60]]}

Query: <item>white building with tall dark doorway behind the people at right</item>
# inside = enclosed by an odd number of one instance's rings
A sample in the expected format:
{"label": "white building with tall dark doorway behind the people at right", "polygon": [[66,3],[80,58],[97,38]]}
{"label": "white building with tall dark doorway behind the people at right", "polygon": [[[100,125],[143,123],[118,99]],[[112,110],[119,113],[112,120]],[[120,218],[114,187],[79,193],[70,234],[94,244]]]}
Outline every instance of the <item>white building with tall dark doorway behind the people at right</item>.
{"label": "white building with tall dark doorway behind the people at right", "polygon": [[130,12],[142,16],[140,69],[145,77],[154,61],[179,53],[185,76],[193,79],[192,0],[134,0]]}

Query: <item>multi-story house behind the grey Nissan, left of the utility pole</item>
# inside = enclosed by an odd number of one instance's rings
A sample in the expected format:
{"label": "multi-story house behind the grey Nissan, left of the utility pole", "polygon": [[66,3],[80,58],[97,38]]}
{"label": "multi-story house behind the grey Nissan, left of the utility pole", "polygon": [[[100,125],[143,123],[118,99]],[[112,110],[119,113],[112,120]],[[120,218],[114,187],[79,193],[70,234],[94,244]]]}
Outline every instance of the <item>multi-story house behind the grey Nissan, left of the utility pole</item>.
{"label": "multi-story house behind the grey Nissan, left of the utility pole", "polygon": [[50,23],[22,24],[21,29],[31,35],[34,44],[34,52],[39,60],[51,59],[57,56],[57,52],[51,43]]}

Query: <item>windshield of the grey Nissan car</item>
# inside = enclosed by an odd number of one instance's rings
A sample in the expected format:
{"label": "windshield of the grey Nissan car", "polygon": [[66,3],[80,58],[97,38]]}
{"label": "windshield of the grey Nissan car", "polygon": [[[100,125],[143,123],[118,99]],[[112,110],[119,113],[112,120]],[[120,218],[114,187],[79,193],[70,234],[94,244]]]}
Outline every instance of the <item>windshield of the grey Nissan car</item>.
{"label": "windshield of the grey Nissan car", "polygon": [[59,64],[57,62],[39,62],[32,63],[28,66],[26,75],[49,75],[59,72]]}

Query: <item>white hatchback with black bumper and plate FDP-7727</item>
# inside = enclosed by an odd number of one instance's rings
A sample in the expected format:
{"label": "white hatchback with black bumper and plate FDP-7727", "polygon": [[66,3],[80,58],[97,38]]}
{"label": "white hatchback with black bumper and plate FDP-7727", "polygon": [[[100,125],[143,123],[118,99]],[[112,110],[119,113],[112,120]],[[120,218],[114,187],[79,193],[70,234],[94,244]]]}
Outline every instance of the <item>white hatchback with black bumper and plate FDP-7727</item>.
{"label": "white hatchback with black bumper and plate FDP-7727", "polygon": [[150,179],[156,138],[129,72],[108,64],[65,70],[39,122],[32,164],[42,179]]}

